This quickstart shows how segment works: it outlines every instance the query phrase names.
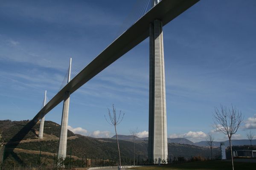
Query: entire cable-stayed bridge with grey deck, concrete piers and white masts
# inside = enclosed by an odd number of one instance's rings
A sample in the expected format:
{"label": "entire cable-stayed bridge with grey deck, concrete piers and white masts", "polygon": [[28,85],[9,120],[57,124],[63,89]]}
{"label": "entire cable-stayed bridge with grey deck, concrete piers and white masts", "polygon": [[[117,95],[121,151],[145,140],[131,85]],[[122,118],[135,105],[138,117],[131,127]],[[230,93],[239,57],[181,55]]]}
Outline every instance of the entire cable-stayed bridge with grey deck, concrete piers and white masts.
{"label": "entire cable-stayed bridge with grey deck, concrete piers and white masts", "polygon": [[[149,1],[146,1],[149,4]],[[167,123],[166,94],[163,54],[162,27],[175,17],[186,11],[199,0],[151,0],[151,9],[108,45],[92,62],[77,75],[71,73],[71,62],[67,74],[67,84],[49,101],[46,102],[35,117],[25,126],[14,139],[20,141],[29,130],[41,119],[40,135],[43,138],[44,116],[56,105],[64,101],[61,120],[61,137],[58,158],[66,157],[67,123],[70,95],[82,85],[122,57],[140,42],[149,37],[149,123],[148,123],[148,160],[167,159]],[[148,6],[147,4],[147,6]],[[147,6],[143,7],[143,11]],[[73,79],[71,79],[73,77]],[[11,140],[12,141],[12,140]],[[7,144],[8,145],[8,144]],[[13,145],[13,144],[12,144]]]}

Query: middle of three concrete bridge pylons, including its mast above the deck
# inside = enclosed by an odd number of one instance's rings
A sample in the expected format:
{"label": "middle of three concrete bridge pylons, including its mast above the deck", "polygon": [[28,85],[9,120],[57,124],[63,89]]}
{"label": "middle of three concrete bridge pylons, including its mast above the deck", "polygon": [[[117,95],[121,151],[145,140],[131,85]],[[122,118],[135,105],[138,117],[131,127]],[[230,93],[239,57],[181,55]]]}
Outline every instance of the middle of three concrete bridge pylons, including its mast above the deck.
{"label": "middle of three concrete bridge pylons, including its mast above the deck", "polygon": [[[71,62],[72,58],[70,58],[70,66],[68,71],[67,83],[70,82],[70,74],[71,74]],[[70,92],[66,91],[63,101],[63,111],[62,111],[62,119],[61,119],[61,136],[58,150],[58,159],[66,158],[67,154],[67,123],[68,123],[68,112],[70,105]]]}

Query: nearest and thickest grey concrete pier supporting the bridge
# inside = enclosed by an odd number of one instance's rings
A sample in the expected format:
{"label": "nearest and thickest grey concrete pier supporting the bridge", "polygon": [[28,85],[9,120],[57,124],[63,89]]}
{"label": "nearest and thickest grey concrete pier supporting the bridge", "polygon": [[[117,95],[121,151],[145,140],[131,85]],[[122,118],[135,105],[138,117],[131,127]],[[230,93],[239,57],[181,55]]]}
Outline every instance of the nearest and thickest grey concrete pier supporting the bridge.
{"label": "nearest and thickest grey concrete pier supporting the bridge", "polygon": [[[152,6],[158,2],[153,0]],[[168,159],[163,29],[160,20],[150,24],[149,46],[148,160],[158,164],[159,159]]]}

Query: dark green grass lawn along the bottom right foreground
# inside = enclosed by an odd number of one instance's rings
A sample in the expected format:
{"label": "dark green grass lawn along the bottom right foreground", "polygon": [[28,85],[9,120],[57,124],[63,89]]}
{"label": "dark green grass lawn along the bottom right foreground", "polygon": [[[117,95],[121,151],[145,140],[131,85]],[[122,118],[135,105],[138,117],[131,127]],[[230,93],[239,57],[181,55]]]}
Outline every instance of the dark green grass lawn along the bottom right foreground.
{"label": "dark green grass lawn along the bottom right foreground", "polygon": [[[131,168],[132,169],[132,168]],[[195,161],[183,164],[135,167],[136,170],[232,170],[231,161]],[[256,163],[234,162],[235,170],[256,170]]]}

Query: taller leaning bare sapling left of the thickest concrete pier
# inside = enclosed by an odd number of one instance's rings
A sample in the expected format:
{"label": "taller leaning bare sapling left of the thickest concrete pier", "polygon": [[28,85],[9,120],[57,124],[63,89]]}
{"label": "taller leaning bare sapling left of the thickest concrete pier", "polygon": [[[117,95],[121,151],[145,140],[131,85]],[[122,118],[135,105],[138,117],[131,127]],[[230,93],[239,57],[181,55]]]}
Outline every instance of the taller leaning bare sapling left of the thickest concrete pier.
{"label": "taller leaning bare sapling left of the thickest concrete pier", "polygon": [[[104,116],[105,116],[106,121],[110,125],[113,125],[115,127],[115,132],[116,132],[116,126],[119,125],[122,122],[122,119],[124,118],[125,113],[122,113],[120,111],[119,115],[116,116],[116,109],[114,108],[114,105],[113,105],[113,114],[111,114],[110,110],[108,109],[108,116],[109,116],[110,121],[108,121],[108,119],[106,118],[106,115],[104,115]],[[119,154],[119,167],[118,167],[118,169],[121,169],[121,156],[120,156],[117,132],[116,132],[116,143],[117,143],[118,154]]]}

